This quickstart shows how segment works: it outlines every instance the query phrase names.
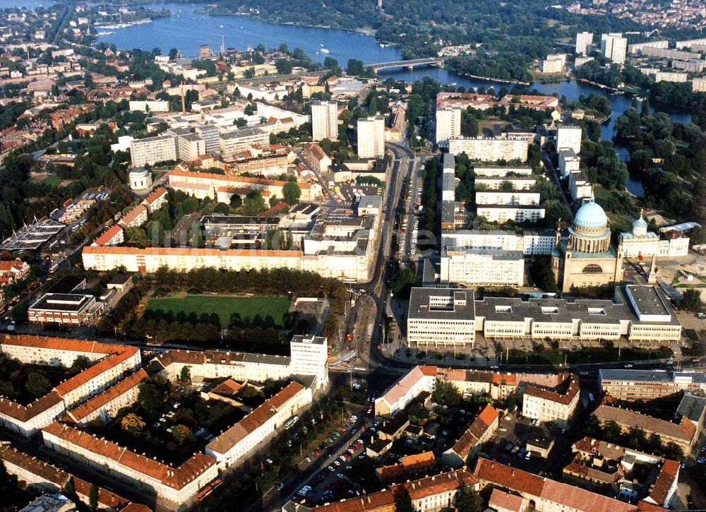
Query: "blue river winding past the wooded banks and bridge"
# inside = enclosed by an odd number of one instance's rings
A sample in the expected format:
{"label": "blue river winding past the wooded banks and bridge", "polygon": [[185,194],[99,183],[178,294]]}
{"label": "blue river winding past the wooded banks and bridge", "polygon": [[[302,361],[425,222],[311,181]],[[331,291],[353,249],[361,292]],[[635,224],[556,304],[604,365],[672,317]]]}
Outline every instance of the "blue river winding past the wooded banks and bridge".
{"label": "blue river winding past the wooded banks and bridge", "polygon": [[[44,0],[44,5],[50,2]],[[42,0],[0,0],[1,6],[37,6]],[[311,56],[314,61],[323,62],[326,56],[337,59],[341,66],[346,66],[348,59],[360,59],[365,64],[401,60],[401,52],[396,47],[381,47],[374,37],[359,32],[347,32],[328,28],[299,27],[296,25],[277,25],[265,23],[246,16],[210,16],[198,13],[202,4],[150,4],[150,8],[166,8],[172,13],[168,18],[158,18],[152,23],[133,25],[127,28],[103,29],[101,32],[110,32],[98,37],[98,42],[115,44],[121,49],[152,49],[159,47],[163,53],[171,48],[177,48],[184,55],[198,55],[201,44],[208,44],[214,51],[220,49],[221,37],[225,39],[226,47],[246,49],[264,44],[266,48],[279,47],[284,42],[289,49],[301,48]],[[321,52],[322,46],[330,53]],[[388,76],[404,81],[415,81],[429,76],[441,83],[455,83],[465,88],[482,86],[488,88],[493,85],[496,89],[510,84],[493,83],[465,76],[459,76],[446,69],[419,68],[414,71],[406,69],[383,70],[378,75],[381,78]],[[585,85],[576,81],[562,81],[558,83],[534,83],[530,88],[539,90],[540,93],[559,97],[566,96],[570,101],[578,100],[580,95],[605,94],[604,90]],[[626,95],[611,94],[608,100],[613,109],[611,119],[602,125],[601,136],[605,140],[612,140],[615,120],[625,112],[632,103]],[[690,114],[670,114],[671,119],[683,123],[689,122]],[[618,155],[624,157],[624,148],[616,148]],[[644,195],[642,184],[635,178],[628,180],[628,189],[637,196]]]}

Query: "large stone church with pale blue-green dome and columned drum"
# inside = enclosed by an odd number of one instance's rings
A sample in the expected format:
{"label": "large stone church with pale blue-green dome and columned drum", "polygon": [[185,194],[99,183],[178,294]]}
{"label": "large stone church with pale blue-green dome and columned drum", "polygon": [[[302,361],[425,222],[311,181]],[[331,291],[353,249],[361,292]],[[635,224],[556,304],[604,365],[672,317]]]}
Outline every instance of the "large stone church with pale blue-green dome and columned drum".
{"label": "large stone church with pale blue-green dome and columned drum", "polygon": [[566,232],[556,230],[551,268],[562,292],[623,280],[623,254],[611,245],[608,216],[593,195],[578,209]]}

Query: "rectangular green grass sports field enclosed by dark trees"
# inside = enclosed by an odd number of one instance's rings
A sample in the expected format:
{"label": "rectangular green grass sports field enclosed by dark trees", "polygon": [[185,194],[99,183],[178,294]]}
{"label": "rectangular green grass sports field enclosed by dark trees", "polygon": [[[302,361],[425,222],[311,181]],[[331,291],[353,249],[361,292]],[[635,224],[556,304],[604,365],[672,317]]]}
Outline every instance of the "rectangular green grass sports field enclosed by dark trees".
{"label": "rectangular green grass sports field enclosed by dark trees", "polygon": [[174,317],[179,314],[201,316],[201,314],[215,313],[219,316],[223,328],[230,325],[233,314],[239,314],[241,323],[247,326],[283,328],[288,310],[287,297],[186,295],[186,297],[150,299],[145,313],[156,313],[160,316],[171,314]]}

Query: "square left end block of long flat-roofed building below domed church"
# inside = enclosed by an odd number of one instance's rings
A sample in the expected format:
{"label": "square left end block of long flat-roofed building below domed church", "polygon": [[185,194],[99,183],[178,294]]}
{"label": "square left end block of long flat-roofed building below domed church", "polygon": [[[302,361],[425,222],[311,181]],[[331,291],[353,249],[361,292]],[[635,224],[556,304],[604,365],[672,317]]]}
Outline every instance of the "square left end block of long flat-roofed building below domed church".
{"label": "square left end block of long flat-roofed building below domed church", "polygon": [[407,343],[417,347],[473,347],[474,294],[460,288],[412,288]]}

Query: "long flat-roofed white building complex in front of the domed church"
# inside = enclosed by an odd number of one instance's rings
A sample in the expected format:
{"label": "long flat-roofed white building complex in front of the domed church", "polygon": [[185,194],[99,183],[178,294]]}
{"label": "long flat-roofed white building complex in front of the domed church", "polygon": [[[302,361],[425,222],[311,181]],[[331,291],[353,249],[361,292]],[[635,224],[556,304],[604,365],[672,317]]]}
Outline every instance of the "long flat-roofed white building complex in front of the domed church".
{"label": "long flat-roofed white building complex in front of the domed church", "polygon": [[[456,292],[464,292],[461,301]],[[616,287],[612,300],[514,299],[485,297],[472,304],[472,291],[412,288],[408,340],[470,343],[469,326],[486,339],[557,340],[654,346],[681,339],[681,324],[659,287]],[[410,339],[409,337],[412,336]],[[466,336],[467,338],[463,338]]]}

